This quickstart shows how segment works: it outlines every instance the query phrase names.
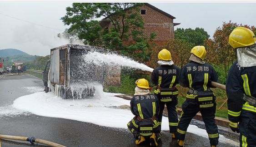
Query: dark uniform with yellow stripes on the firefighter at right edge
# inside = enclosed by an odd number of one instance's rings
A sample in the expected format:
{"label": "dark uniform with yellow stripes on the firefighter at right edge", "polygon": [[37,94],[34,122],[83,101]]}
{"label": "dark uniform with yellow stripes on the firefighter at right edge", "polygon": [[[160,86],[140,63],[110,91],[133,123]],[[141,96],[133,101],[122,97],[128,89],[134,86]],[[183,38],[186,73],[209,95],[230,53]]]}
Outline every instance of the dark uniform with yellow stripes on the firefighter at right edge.
{"label": "dark uniform with yellow stripes on the firefighter at right edge", "polygon": [[239,128],[240,147],[256,147],[256,106],[243,100],[244,94],[256,98],[256,66],[243,68],[236,61],[228,73],[226,93],[230,127]]}

